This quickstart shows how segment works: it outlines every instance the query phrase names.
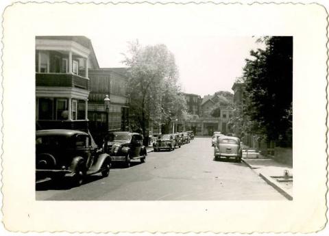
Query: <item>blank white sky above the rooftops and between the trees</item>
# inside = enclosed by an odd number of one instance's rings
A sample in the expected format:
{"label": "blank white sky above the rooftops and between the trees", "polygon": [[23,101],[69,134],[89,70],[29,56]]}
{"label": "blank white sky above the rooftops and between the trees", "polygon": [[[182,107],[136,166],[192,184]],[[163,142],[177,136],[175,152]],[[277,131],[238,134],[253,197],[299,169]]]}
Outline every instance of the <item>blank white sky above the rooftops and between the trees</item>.
{"label": "blank white sky above the rooftops and between the trees", "polygon": [[[101,67],[122,67],[122,53],[127,42],[136,38],[97,38],[90,36]],[[175,55],[184,92],[213,94],[219,90],[232,92],[236,77],[242,75],[249,51],[263,47],[250,37],[217,38],[138,38],[143,45],[166,44]]]}

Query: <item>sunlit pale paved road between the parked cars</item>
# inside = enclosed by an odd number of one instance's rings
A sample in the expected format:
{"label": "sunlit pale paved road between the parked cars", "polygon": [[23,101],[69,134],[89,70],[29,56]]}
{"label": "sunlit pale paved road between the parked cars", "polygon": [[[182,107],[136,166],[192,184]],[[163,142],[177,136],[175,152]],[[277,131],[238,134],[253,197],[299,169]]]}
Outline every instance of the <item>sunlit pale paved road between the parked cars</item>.
{"label": "sunlit pale paved road between the parked cars", "polygon": [[[208,137],[174,151],[149,153],[145,163],[113,168],[107,178],[66,189],[38,186],[37,200],[285,200],[244,163],[213,161]],[[54,187],[55,186],[55,187]]]}

